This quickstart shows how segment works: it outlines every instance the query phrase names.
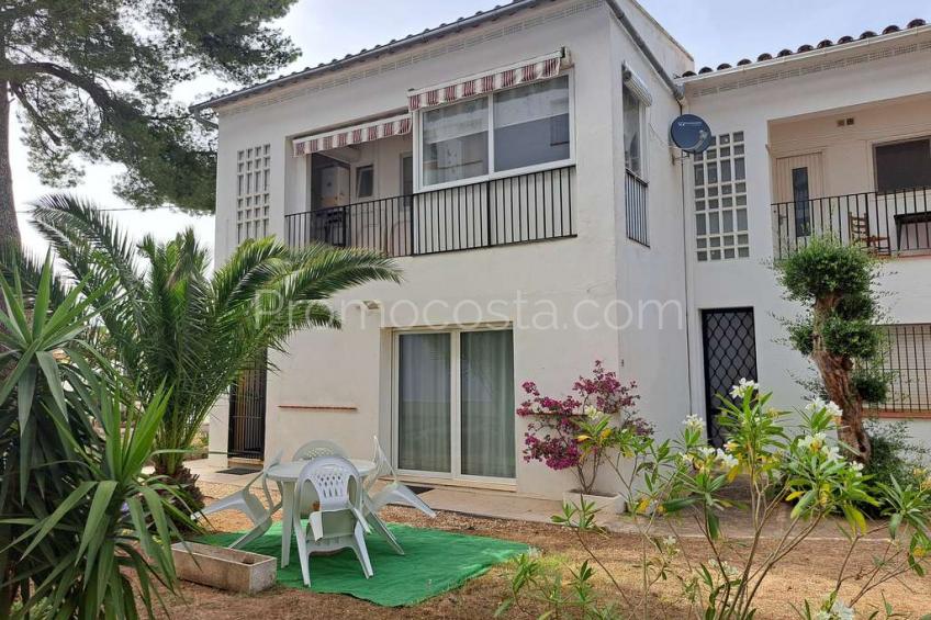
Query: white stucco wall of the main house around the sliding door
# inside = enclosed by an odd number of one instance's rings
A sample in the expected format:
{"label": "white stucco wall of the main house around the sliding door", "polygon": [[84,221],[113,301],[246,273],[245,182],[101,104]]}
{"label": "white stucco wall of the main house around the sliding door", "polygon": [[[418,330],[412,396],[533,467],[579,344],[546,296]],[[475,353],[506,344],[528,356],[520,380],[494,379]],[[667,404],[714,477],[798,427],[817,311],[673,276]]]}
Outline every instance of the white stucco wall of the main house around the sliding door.
{"label": "white stucco wall of the main house around the sliding door", "polygon": [[[626,4],[635,15],[639,9]],[[640,19],[644,25],[646,20]],[[507,32],[506,36],[492,36]],[[652,33],[651,40],[666,41]],[[457,49],[457,41],[464,43]],[[481,41],[481,44],[469,44]],[[661,50],[674,58],[675,67],[688,67],[682,50],[666,41]],[[665,129],[677,106],[636,48],[620,33],[608,9],[599,1],[563,1],[521,11],[473,32],[446,37],[416,48],[416,59],[401,63],[391,71],[371,71],[369,77],[343,79],[340,75],[319,78],[345,83],[318,89],[309,84],[273,91],[268,95],[234,104],[220,114],[220,157],[217,165],[217,257],[222,261],[235,246],[235,153],[271,144],[271,230],[281,235],[285,213],[306,205],[305,160],[290,154],[290,138],[403,109],[406,92],[459,76],[493,69],[567,47],[573,67],[574,159],[572,181],[574,238],[529,245],[401,258],[402,285],[375,283],[355,289],[334,300],[344,312],[339,331],[305,331],[295,335],[288,353],[273,354],[279,371],[269,377],[267,396],[266,453],[283,450],[285,458],[301,443],[328,438],[352,455],[371,453],[372,435],[385,448],[392,433],[392,334],[413,325],[441,327],[462,324],[509,325],[514,330],[515,404],[523,399],[520,383],[532,380],[541,391],[561,396],[575,377],[587,372],[594,360],[619,370],[625,379],[641,384],[641,413],[658,427],[668,427],[666,417],[684,414],[687,391],[670,391],[660,380],[665,372],[682,383],[687,372],[685,357],[663,360],[658,347],[682,347],[681,334],[618,335],[618,298],[633,302],[640,296],[680,298],[682,275],[681,199],[677,171],[669,161]],[[407,54],[403,54],[407,56]],[[651,167],[657,183],[651,185],[651,236],[653,247],[641,251],[622,234],[624,150],[620,122],[620,66],[636,65],[654,89],[649,136]],[[372,66],[385,61],[374,60]],[[368,64],[347,69],[357,76],[369,74]],[[400,182],[399,156],[410,150],[410,137],[394,138],[362,149],[358,165],[374,161],[378,194],[396,195]],[[391,169],[386,174],[379,169]],[[651,181],[652,182],[652,181]],[[654,189],[655,188],[655,189]],[[618,202],[620,200],[620,202]],[[618,270],[618,261],[629,261]],[[678,266],[678,267],[676,267]],[[666,273],[673,270],[670,275]],[[626,289],[626,292],[619,292]],[[470,304],[456,313],[463,300]],[[352,302],[374,301],[377,309]],[[474,303],[472,303],[474,302]],[[497,302],[494,314],[490,304]],[[579,318],[593,328],[574,327]],[[545,304],[545,305],[543,305]],[[412,308],[430,308],[427,318],[412,318]],[[479,311],[478,308],[485,308]],[[554,308],[557,328],[529,323],[535,309]],[[389,312],[391,308],[399,308]],[[595,309],[597,308],[597,311]],[[596,313],[598,316],[596,316]],[[605,313],[609,315],[605,320]],[[547,315],[550,316],[550,315]],[[549,323],[548,319],[543,319]],[[223,417],[217,413],[217,417]],[[222,420],[225,422],[225,420]],[[535,496],[559,497],[572,486],[568,472],[552,472],[539,463],[525,463],[519,456],[524,422],[515,420],[517,458],[516,491]],[[217,428],[225,424],[218,424]],[[212,446],[225,444],[213,438]]]}

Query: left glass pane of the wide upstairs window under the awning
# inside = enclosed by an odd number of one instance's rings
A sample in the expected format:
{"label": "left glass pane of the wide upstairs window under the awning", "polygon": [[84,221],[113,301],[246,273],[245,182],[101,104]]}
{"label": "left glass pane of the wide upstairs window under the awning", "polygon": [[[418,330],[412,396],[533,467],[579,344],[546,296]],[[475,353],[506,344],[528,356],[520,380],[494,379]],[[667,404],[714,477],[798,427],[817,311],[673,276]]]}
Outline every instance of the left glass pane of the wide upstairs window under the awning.
{"label": "left glass pane of the wide upstairs window under the awning", "polygon": [[487,99],[463,101],[424,114],[424,184],[489,172]]}

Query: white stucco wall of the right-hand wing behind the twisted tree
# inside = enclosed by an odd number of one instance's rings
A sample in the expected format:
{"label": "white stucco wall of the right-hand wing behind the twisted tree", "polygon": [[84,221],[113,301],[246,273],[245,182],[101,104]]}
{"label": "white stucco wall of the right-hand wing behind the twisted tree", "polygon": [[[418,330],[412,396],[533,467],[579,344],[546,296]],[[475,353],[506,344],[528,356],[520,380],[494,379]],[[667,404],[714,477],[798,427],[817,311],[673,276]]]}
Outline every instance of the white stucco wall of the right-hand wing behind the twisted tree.
{"label": "white stucco wall of the right-hand wing behind the twisted tree", "polygon": [[[931,133],[931,31],[905,33],[891,41],[852,47],[828,57],[778,63],[747,71],[687,82],[688,111],[703,116],[716,134],[743,131],[751,257],[717,262],[694,259],[694,217],[689,226],[689,292],[692,364],[702,372],[700,311],[753,306],[759,380],[776,393],[776,405],[795,407],[804,391],[796,379],[810,376],[807,360],[779,342],[785,335],[778,317],[799,308],[785,302],[769,262],[773,259],[770,204],[772,158],[821,150],[825,195],[874,189],[871,145],[902,136]],[[895,53],[894,53],[895,52]],[[854,58],[843,66],[845,58]],[[829,67],[831,61],[839,66]],[[770,79],[767,79],[769,77]],[[717,92],[714,92],[717,91]],[[838,128],[837,117],[853,116]],[[692,205],[694,210],[694,205]],[[880,290],[891,323],[931,322],[931,258],[911,257],[884,264]],[[700,375],[693,383],[694,402],[704,405]],[[915,421],[912,431],[931,441],[931,422]]]}

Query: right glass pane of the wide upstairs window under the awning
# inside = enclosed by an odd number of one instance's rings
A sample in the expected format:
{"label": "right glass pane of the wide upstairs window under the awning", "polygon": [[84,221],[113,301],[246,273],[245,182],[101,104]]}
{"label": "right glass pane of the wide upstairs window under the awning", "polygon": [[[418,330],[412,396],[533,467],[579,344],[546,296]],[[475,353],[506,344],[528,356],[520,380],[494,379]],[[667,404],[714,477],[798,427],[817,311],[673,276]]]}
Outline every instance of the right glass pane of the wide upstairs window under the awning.
{"label": "right glass pane of the wide upstairs window under the awning", "polygon": [[494,95],[495,170],[569,159],[569,77]]}

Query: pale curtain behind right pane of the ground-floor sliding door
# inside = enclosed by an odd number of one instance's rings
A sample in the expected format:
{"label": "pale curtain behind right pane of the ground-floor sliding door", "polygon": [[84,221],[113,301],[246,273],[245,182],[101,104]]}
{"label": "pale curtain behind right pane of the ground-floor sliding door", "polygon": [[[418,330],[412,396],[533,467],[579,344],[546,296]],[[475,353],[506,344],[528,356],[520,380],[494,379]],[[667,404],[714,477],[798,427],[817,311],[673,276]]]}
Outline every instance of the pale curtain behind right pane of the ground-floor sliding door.
{"label": "pale curtain behind right pane of the ground-floor sliding door", "polygon": [[461,335],[463,474],[515,476],[513,342],[511,330]]}

